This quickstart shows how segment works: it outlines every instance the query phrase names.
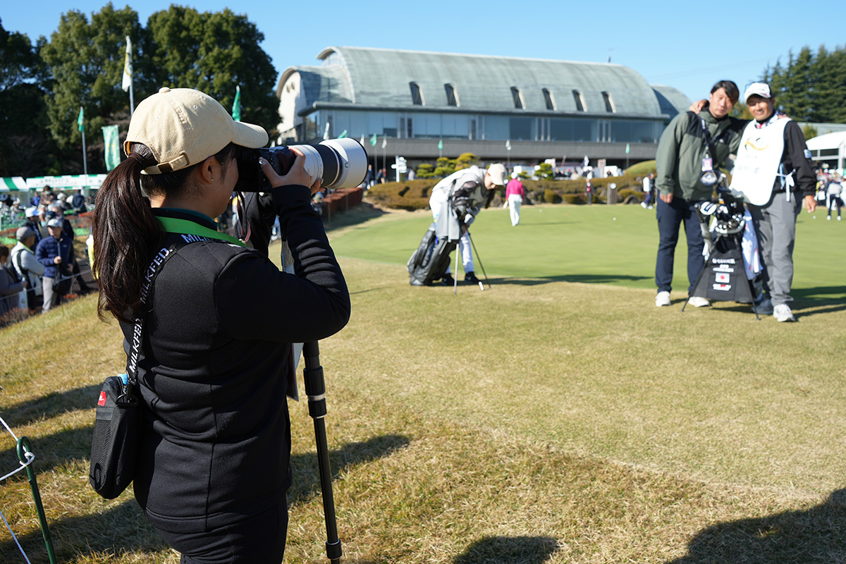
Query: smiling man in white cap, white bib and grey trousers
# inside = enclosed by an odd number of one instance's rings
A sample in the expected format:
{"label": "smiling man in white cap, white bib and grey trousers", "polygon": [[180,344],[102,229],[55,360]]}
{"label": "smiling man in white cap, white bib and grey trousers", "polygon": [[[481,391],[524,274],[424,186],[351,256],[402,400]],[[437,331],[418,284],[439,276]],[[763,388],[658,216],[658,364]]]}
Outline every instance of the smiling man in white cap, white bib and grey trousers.
{"label": "smiling man in white cap, white bib and grey trousers", "polygon": [[744,129],[729,189],[743,197],[764,260],[763,292],[754,309],[778,321],[795,321],[790,304],[796,218],[802,204],[816,209],[816,174],[805,135],[790,118],[777,115],[770,85],[754,82],[744,101],[754,118]]}

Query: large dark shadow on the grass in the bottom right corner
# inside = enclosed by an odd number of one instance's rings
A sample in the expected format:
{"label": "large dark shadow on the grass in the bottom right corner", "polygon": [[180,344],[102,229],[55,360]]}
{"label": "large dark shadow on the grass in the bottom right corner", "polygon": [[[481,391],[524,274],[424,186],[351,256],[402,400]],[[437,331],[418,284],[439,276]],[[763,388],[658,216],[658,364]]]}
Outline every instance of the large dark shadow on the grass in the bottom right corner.
{"label": "large dark shadow on the grass in the bottom right corner", "polygon": [[669,564],[828,564],[846,561],[846,490],[805,511],[719,523]]}

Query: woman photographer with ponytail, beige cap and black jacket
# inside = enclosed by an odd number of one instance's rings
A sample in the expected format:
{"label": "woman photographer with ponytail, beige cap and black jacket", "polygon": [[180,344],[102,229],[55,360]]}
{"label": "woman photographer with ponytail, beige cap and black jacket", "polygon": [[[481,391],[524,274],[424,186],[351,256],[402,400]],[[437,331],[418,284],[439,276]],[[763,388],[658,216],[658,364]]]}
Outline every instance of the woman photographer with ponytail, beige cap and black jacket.
{"label": "woman photographer with ponytail, beige cap and black jacket", "polygon": [[[182,562],[278,564],[288,526],[291,342],[339,331],[349,293],[299,154],[285,176],[262,160],[296,274],[217,233],[240,147],[266,145],[198,90],[163,88],[129,124],[129,158],[96,197],[98,314],[129,353],[144,315],[138,381],[145,423],[135,498]],[[192,241],[184,244],[185,241]],[[160,249],[184,244],[141,289]],[[128,340],[129,339],[129,340]]]}

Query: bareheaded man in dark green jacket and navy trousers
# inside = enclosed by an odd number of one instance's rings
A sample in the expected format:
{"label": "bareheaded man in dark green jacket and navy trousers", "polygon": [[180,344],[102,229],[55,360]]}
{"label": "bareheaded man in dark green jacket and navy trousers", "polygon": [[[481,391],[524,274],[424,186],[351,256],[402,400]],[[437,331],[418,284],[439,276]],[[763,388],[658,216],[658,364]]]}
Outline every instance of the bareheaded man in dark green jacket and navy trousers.
{"label": "bareheaded man in dark green jacket and navy trousers", "polygon": [[[684,222],[688,244],[688,294],[705,267],[702,238],[696,205],[711,200],[719,175],[718,168],[736,153],[746,122],[731,118],[738,101],[738,86],[720,80],[711,88],[708,107],[698,115],[679,113],[664,129],[656,156],[656,218],[658,220],[658,255],[655,264],[656,306],[670,304],[673,289],[673,255],[678,230]],[[696,307],[709,305],[703,296],[689,296]]]}

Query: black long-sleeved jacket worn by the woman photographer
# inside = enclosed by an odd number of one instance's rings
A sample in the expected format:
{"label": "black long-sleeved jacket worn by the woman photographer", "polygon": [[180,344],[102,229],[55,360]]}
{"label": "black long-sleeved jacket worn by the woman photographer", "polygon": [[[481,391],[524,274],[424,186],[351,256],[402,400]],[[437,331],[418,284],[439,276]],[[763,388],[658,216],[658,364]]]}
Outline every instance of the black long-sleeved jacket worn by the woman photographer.
{"label": "black long-sleeved jacket worn by the woman photographer", "polygon": [[[179,249],[152,288],[134,486],[156,528],[217,528],[233,514],[278,503],[290,485],[289,343],[339,331],[349,320],[349,293],[309,190],[277,189],[273,201],[296,276],[255,250],[208,240]],[[214,228],[198,216],[163,213]],[[181,237],[168,233],[166,244]],[[131,326],[122,329],[131,335]]]}

